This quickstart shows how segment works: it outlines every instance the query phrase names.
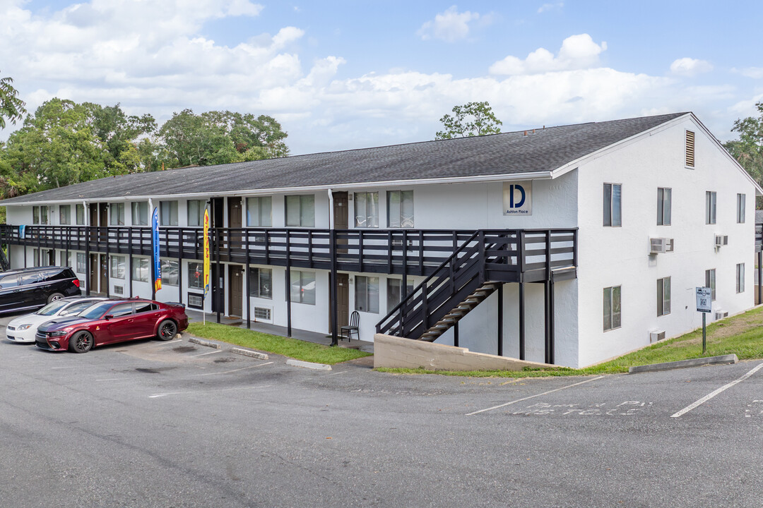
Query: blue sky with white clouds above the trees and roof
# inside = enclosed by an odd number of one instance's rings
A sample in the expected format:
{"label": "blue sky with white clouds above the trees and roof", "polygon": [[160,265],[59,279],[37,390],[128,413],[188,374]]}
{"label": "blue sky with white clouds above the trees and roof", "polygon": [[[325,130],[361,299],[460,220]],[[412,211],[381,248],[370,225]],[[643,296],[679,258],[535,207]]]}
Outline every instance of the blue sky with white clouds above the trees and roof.
{"label": "blue sky with white clouds above the trees and roof", "polygon": [[[763,2],[0,0],[0,76],[34,110],[272,115],[293,154],[692,110],[722,140],[763,101]],[[0,132],[0,139],[9,129]]]}

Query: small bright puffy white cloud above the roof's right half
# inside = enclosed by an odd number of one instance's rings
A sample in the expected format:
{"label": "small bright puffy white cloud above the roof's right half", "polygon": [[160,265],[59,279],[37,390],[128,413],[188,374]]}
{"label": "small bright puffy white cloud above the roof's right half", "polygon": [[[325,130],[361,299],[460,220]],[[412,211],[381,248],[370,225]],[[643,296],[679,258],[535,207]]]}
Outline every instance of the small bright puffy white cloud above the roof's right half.
{"label": "small bright puffy white cloud above the roof's right half", "polygon": [[526,59],[509,55],[491,65],[489,72],[494,75],[522,75],[588,69],[599,64],[599,54],[604,50],[607,50],[606,42],[594,43],[588,34],[572,35],[562,41],[556,56],[545,48],[531,52]]}

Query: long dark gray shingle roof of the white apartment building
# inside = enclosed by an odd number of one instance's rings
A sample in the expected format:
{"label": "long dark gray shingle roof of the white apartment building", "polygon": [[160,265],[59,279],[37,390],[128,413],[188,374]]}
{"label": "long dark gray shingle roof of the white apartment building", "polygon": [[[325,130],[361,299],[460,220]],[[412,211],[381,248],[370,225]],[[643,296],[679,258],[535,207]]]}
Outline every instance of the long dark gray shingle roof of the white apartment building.
{"label": "long dark gray shingle roof of the white apartment building", "polygon": [[553,171],[687,113],[126,174],[18,196],[0,205],[129,196],[228,193]]}

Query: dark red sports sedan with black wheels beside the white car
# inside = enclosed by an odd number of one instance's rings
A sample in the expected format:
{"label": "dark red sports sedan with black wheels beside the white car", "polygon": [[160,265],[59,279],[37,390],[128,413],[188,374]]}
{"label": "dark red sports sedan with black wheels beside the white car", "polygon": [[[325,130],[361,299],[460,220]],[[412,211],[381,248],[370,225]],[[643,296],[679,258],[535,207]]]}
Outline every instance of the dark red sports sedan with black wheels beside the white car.
{"label": "dark red sports sedan with black wheels beside the white car", "polygon": [[37,329],[37,347],[87,353],[95,346],[158,337],[170,340],[188,327],[182,303],[105,300],[77,316],[49,321]]}

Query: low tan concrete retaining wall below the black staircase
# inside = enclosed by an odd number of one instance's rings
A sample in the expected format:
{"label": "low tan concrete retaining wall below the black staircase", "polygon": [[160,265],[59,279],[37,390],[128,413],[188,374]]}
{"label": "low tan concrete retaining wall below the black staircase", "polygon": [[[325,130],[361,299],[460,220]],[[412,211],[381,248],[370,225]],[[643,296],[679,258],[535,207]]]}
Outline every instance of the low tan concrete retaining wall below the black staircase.
{"label": "low tan concrete retaining wall below the black staircase", "polygon": [[546,363],[472,353],[465,347],[446,346],[375,334],[374,368],[427,370],[522,370],[523,367],[550,367]]}

